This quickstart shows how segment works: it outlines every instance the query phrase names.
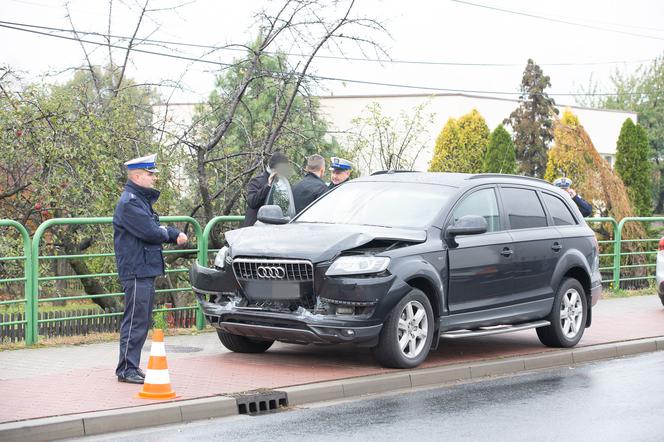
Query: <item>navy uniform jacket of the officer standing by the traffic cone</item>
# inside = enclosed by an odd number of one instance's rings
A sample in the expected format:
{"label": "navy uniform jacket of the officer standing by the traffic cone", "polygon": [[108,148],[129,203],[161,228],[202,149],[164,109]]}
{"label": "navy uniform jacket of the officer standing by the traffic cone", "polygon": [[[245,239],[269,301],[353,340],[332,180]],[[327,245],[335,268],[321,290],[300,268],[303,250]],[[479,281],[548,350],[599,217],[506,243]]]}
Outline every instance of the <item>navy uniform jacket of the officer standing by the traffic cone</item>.
{"label": "navy uniform jacket of the officer standing by the traffic cone", "polygon": [[159,191],[129,181],[113,214],[115,262],[121,281],[164,274],[161,245],[175,243],[180,231],[161,227],[152,209]]}

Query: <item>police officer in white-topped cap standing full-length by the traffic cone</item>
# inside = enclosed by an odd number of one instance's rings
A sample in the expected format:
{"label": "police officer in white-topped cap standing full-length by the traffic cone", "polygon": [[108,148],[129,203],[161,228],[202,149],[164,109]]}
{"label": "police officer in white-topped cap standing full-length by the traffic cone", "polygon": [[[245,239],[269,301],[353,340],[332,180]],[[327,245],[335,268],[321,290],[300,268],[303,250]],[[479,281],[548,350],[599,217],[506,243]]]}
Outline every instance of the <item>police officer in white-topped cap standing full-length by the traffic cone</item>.
{"label": "police officer in white-topped cap standing full-length by the traffic cone", "polygon": [[125,293],[120,326],[120,360],[115,370],[119,382],[142,384],[141,349],[152,321],[154,280],[164,274],[162,244],[187,242],[174,227],[159,225],[152,205],[159,198],[156,155],[127,161],[127,184],[113,214],[113,242],[118,275]]}

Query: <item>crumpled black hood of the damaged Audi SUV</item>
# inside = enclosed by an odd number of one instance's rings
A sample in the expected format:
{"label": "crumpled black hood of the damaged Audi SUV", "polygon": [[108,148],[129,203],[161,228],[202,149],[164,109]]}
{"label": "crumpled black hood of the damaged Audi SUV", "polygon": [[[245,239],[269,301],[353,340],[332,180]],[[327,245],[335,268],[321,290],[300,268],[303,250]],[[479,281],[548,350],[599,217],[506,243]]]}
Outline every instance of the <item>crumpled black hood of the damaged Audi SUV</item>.
{"label": "crumpled black hood of the damaged Audi SUV", "polygon": [[314,263],[374,239],[424,242],[426,231],[349,224],[257,225],[226,232],[232,257],[307,259]]}

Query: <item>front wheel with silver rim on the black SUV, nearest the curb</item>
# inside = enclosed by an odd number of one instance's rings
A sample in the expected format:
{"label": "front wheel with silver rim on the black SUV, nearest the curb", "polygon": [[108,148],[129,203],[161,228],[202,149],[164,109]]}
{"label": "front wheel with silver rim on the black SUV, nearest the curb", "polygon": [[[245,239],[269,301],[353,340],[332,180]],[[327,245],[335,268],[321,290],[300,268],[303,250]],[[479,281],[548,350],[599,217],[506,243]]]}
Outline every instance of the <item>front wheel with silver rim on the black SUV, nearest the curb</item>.
{"label": "front wheel with silver rim on the black SUV, nearest the curb", "polygon": [[414,289],[383,323],[374,356],[385,367],[417,367],[429,355],[434,330],[431,303],[422,291]]}

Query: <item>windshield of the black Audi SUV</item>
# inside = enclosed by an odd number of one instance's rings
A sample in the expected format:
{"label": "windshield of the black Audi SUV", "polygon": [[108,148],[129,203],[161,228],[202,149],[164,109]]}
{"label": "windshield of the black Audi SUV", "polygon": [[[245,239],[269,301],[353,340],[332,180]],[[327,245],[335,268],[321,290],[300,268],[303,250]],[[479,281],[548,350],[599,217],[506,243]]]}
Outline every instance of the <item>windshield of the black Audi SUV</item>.
{"label": "windshield of the black Audi SUV", "polygon": [[430,225],[453,189],[398,182],[351,182],[321,198],[293,222],[421,229]]}

